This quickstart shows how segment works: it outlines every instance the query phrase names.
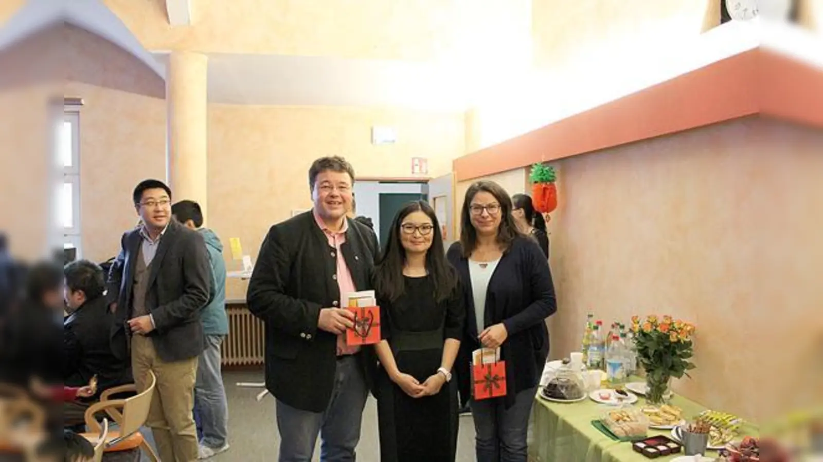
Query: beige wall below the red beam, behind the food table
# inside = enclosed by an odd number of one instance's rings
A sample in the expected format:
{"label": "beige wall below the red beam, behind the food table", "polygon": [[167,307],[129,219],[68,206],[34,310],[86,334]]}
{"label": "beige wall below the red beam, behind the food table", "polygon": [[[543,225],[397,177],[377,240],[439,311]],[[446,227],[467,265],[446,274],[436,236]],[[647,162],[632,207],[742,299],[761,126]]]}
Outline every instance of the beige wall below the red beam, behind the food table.
{"label": "beige wall below the red beam, behind the food table", "polygon": [[579,349],[589,310],[669,313],[697,326],[677,391],[759,421],[819,402],[821,150],[748,119],[561,160],[551,356]]}

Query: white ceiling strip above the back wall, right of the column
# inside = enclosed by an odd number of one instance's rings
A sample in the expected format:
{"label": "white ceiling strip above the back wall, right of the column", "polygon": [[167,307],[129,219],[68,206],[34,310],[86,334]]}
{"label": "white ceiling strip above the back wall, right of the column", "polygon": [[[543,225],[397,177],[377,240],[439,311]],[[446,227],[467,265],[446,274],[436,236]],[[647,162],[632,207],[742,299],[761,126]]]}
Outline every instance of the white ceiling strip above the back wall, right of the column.
{"label": "white ceiling strip above the back wall, right of the column", "polygon": [[[166,53],[155,53],[165,65]],[[464,110],[472,89],[456,67],[263,54],[208,55],[211,103]]]}

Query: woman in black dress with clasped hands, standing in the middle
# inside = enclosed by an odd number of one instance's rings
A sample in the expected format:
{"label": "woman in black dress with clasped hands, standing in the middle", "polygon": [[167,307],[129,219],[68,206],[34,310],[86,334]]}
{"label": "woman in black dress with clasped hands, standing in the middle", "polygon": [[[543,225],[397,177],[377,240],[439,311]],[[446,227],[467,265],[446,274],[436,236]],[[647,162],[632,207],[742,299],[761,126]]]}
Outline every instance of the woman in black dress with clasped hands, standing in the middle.
{"label": "woman in black dress with clasped hands, standing in the middle", "polygon": [[382,462],[453,462],[463,334],[462,292],[446,261],[435,211],[424,201],[398,212],[375,268],[383,340],[375,381]]}

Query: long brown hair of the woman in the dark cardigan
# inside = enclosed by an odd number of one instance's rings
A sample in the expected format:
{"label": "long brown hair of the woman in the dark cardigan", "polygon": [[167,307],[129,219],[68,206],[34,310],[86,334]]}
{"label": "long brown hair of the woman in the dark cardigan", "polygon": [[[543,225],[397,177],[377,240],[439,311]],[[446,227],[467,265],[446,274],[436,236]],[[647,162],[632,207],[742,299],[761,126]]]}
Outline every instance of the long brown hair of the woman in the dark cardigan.
{"label": "long brown hair of the woman in the dark cardigan", "polygon": [[466,197],[463,199],[463,211],[460,212],[460,244],[463,247],[463,256],[469,257],[477,248],[477,229],[474,229],[472,224],[472,199],[478,192],[488,192],[500,203],[500,227],[497,229],[497,243],[503,249],[503,252],[508,252],[514,238],[520,232],[517,230],[517,225],[514,224],[512,217],[512,200],[509,193],[506,192],[496,182],[479,181],[472,183],[466,191]]}

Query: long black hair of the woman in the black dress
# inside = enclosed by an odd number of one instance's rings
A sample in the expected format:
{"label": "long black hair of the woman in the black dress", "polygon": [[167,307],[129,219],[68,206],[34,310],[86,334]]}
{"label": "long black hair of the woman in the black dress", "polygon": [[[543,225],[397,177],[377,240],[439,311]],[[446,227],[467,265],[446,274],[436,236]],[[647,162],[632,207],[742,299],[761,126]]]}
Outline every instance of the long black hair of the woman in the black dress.
{"label": "long black hair of the woman in the black dress", "polygon": [[403,267],[406,265],[406,249],[400,242],[400,225],[407,215],[421,211],[428,215],[434,228],[431,238],[431,247],[425,252],[425,269],[429,271],[435,281],[435,301],[442,302],[449,298],[458,283],[458,274],[454,267],[446,260],[443,247],[443,235],[440,233],[440,224],[437,221],[435,210],[425,201],[413,201],[404,206],[398,215],[395,215],[392,228],[388,233],[388,241],[383,254],[374,269],[374,289],[379,297],[390,301],[397,300],[405,291]]}

